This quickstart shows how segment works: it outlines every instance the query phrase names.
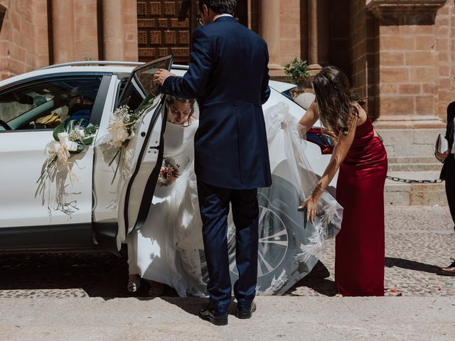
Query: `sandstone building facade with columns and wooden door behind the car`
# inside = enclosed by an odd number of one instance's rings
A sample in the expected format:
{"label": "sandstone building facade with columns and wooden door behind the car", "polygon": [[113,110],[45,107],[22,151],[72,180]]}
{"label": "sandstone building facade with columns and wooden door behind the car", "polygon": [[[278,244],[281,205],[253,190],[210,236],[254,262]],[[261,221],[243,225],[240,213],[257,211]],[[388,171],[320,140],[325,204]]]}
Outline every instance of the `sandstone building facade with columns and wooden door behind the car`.
{"label": "sandstone building facade with columns and wooden door behind the car", "polygon": [[[0,79],[72,60],[173,53],[185,63],[198,9],[190,1],[178,21],[181,3],[0,0]],[[390,156],[432,156],[455,97],[454,0],[238,0],[236,16],[267,40],[272,77],[284,80],[294,57],[313,74],[337,65],[368,99]]]}

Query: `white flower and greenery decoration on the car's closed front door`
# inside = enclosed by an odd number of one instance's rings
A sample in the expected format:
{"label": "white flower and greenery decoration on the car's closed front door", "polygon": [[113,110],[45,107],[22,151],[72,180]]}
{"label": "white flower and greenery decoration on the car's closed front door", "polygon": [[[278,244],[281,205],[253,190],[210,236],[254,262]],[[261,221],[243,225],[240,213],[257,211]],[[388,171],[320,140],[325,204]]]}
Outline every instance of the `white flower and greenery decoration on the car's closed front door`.
{"label": "white flower and greenery decoration on the car's closed front door", "polygon": [[41,175],[36,183],[45,178],[53,178],[56,172],[66,171],[70,181],[78,181],[77,176],[71,171],[71,154],[85,151],[93,142],[97,132],[93,124],[85,125],[86,119],[71,119],[55,127],[53,138],[46,146],[48,158],[45,159],[41,168]]}

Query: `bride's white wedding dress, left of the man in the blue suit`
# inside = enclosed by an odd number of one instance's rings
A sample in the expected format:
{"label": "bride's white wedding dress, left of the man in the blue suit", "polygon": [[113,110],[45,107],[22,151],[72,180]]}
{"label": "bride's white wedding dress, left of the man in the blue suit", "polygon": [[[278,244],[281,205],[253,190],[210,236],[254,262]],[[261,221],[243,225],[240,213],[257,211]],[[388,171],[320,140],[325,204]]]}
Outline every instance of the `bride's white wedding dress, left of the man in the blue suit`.
{"label": "bride's white wedding dress, left of the man in the blue suit", "polygon": [[127,238],[129,274],[167,284],[179,296],[205,296],[202,222],[193,171],[196,129],[198,121],[189,126],[166,123],[164,157],[180,175],[171,185],[156,185],[146,222]]}

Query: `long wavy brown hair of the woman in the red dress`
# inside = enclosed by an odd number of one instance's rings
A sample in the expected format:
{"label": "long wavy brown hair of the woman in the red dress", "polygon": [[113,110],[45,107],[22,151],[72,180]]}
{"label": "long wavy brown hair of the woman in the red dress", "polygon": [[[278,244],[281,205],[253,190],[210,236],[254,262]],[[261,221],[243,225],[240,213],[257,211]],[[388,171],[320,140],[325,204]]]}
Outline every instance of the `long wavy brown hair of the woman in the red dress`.
{"label": "long wavy brown hair of the woman in the red dress", "polygon": [[319,119],[328,136],[337,143],[338,133],[347,135],[351,121],[359,116],[358,107],[365,101],[351,89],[348,77],[335,66],[324,67],[313,80],[319,107]]}

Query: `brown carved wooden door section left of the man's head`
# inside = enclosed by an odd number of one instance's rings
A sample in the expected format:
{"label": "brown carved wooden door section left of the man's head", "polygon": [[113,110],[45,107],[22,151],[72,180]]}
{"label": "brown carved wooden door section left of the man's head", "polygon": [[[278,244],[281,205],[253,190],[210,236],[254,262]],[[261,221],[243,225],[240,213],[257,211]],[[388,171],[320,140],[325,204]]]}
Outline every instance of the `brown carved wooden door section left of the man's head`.
{"label": "brown carved wooden door section left of the man's head", "polygon": [[137,0],[139,61],[173,54],[174,63],[188,64],[198,11],[193,3],[186,20],[178,21],[180,6],[181,0]]}

